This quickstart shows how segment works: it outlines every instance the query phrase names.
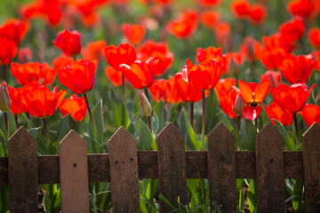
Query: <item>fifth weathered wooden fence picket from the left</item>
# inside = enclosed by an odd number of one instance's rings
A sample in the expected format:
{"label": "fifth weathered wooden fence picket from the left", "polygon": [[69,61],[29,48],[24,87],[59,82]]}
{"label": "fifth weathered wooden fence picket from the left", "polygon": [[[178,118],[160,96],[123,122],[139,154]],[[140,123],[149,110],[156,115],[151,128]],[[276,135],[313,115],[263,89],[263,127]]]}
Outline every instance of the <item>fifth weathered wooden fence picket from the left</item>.
{"label": "fifth weathered wooden fence picket from the left", "polygon": [[208,135],[209,199],[212,209],[236,211],[235,136],[220,122]]}

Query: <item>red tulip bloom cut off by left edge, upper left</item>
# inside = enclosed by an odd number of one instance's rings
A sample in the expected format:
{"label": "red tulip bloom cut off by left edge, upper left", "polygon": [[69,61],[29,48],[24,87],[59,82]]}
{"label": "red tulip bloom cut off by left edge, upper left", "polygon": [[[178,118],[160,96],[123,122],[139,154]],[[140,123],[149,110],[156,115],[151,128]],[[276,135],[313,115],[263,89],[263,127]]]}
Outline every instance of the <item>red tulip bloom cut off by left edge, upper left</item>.
{"label": "red tulip bloom cut off by left edge, upper left", "polygon": [[0,35],[0,66],[9,64],[17,51],[17,43]]}

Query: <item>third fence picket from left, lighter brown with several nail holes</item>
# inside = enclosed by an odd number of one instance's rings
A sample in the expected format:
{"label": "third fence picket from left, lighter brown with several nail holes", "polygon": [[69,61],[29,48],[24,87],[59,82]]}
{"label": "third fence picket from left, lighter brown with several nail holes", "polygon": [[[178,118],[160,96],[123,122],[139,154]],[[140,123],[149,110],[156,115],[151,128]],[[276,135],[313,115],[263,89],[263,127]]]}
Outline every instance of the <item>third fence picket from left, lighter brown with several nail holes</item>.
{"label": "third fence picket from left, lighter brown with several nail holes", "polygon": [[112,211],[140,212],[137,140],[120,127],[108,141]]}

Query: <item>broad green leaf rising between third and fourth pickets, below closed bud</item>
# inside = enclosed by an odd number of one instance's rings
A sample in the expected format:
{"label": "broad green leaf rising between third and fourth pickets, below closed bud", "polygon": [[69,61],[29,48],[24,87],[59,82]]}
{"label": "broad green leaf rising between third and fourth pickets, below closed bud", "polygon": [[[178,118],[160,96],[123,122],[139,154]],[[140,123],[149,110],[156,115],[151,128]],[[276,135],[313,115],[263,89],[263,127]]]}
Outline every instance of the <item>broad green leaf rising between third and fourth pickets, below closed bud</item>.
{"label": "broad green leaf rising between third and fourth pickets, below closed bud", "polygon": [[147,124],[137,117],[134,127],[138,131],[140,145],[143,150],[156,150],[156,140]]}

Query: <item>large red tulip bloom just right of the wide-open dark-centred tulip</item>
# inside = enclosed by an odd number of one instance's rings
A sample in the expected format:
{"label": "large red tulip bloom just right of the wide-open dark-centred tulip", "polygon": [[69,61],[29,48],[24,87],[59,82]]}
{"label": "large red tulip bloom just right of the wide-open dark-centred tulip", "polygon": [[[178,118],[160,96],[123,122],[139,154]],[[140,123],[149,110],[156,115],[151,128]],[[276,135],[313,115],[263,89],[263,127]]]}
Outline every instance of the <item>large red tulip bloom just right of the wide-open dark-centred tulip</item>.
{"label": "large red tulip bloom just right of the wide-open dark-centred tulip", "polygon": [[308,86],[305,83],[295,83],[291,86],[281,83],[276,88],[271,89],[271,94],[273,100],[284,112],[293,114],[303,109],[315,86],[316,84],[308,91]]}

